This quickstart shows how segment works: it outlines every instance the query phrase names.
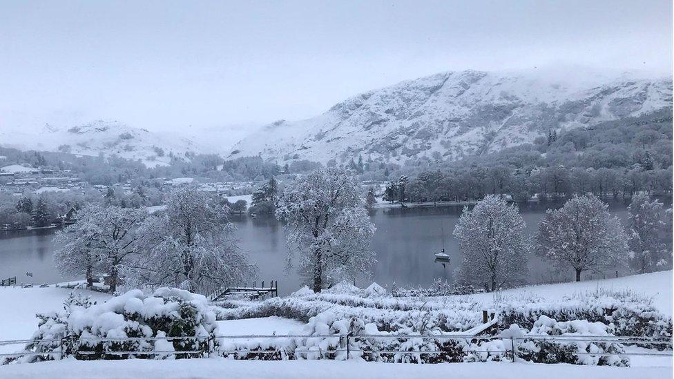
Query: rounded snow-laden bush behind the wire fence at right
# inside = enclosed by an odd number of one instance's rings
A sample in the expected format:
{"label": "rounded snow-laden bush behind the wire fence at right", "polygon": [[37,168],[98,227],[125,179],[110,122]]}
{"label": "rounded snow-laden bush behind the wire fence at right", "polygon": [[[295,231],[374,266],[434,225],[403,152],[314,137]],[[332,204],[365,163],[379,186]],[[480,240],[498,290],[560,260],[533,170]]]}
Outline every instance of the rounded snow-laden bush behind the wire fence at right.
{"label": "rounded snow-laden bush behind the wire fence at right", "polygon": [[[613,336],[601,322],[572,320],[557,322],[545,315],[534,323],[526,333],[517,325],[503,331],[503,338],[517,340],[517,358],[537,363],[570,363],[574,365],[628,366],[629,359],[623,356],[622,344],[606,340]],[[543,336],[543,337],[541,337]],[[544,336],[560,336],[552,339]],[[590,340],[597,338],[597,340]],[[602,340],[604,338],[604,340]]]}

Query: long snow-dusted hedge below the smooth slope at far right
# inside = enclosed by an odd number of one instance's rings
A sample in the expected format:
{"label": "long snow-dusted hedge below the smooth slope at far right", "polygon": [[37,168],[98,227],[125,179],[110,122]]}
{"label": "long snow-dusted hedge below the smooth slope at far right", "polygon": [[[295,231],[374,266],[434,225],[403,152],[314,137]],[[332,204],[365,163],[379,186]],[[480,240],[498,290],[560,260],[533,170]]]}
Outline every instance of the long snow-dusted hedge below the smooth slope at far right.
{"label": "long snow-dusted hedge below the smooth slope at far right", "polygon": [[541,316],[561,322],[601,322],[616,336],[671,338],[672,319],[660,313],[650,299],[633,293],[595,291],[562,301],[508,300],[499,304],[499,324],[531,329]]}

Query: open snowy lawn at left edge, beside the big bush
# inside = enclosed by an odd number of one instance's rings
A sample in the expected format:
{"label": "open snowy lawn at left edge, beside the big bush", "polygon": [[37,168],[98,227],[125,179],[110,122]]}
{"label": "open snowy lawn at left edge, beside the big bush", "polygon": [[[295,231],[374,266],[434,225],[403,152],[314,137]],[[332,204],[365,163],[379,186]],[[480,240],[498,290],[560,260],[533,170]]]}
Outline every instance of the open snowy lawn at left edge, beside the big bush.
{"label": "open snowy lawn at left edge, beside the big bush", "polygon": [[[25,340],[37,331],[36,313],[63,309],[63,302],[71,292],[90,295],[102,302],[110,295],[86,289],[0,287],[0,341]],[[16,349],[14,349],[16,350]]]}

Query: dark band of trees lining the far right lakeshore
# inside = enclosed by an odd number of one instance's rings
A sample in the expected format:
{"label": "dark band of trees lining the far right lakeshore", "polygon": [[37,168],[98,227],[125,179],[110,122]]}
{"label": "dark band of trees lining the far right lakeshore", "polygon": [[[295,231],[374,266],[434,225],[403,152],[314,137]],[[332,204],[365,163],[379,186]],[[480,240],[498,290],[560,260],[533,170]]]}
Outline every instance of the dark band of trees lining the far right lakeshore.
{"label": "dark band of trees lining the far right lakeshore", "polygon": [[401,176],[389,182],[389,202],[471,201],[489,194],[506,194],[516,202],[566,198],[592,193],[597,197],[631,197],[635,193],[671,195],[672,170],[658,168],[537,167],[522,171],[506,166],[450,168],[426,171],[414,179]]}

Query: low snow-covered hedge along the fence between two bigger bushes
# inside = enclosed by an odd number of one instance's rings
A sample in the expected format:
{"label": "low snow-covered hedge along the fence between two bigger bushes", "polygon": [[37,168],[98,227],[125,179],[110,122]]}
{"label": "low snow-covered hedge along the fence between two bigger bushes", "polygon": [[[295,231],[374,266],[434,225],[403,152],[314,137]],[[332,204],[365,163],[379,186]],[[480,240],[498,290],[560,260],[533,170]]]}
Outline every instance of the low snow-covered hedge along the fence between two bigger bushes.
{"label": "low snow-covered hedge along the fence between two bigger bushes", "polygon": [[[470,339],[423,338],[427,332],[421,334],[411,329],[380,331],[372,322],[354,317],[340,318],[332,311],[310,318],[307,325],[297,331],[298,335],[307,337],[223,339],[218,341],[218,350],[220,356],[246,360],[345,360],[347,333],[352,333],[348,339],[351,359],[412,363],[508,359],[500,340],[471,343]],[[488,349],[492,351],[481,353]]]}

